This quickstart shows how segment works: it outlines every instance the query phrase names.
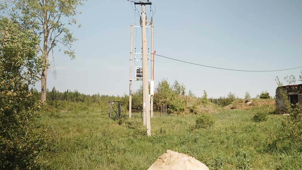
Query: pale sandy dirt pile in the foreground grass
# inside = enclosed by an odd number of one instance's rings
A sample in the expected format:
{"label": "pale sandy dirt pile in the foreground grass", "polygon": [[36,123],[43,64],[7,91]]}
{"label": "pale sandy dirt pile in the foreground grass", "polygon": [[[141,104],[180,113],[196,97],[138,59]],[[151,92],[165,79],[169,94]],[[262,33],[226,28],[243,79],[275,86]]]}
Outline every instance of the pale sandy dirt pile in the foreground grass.
{"label": "pale sandy dirt pile in the foreground grass", "polygon": [[209,170],[209,168],[191,156],[167,150],[148,170]]}

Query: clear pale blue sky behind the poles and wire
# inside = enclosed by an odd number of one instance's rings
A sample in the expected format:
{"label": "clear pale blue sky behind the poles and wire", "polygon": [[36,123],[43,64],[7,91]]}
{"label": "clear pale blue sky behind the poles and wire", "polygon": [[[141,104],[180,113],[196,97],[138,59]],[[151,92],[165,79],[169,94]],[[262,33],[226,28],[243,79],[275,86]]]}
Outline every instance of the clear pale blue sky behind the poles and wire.
{"label": "clear pale blue sky behind the poles and wire", "polygon": [[[302,66],[301,0],[153,0],[154,50],[159,55],[216,67],[275,70]],[[141,7],[137,6],[141,11]],[[152,7],[153,11],[154,6]],[[47,86],[59,91],[122,95],[129,93],[130,26],[134,11],[126,0],[88,0],[72,28],[76,59],[55,51],[57,77],[49,70]],[[150,8],[147,7],[149,16]],[[152,13],[151,13],[152,14]],[[139,24],[139,18],[136,17]],[[150,36],[151,30],[148,30]],[[141,29],[134,46],[141,48]],[[59,47],[57,48],[59,49]],[[138,51],[139,52],[139,51]],[[138,62],[137,65],[140,65]],[[134,65],[134,64],[133,64]],[[150,63],[149,63],[150,65]],[[134,68],[134,67],[133,67]],[[236,72],[180,63],[155,56],[155,84],[163,78],[183,82],[202,96],[233,92],[252,97],[267,90],[275,95],[275,76],[298,77],[302,69],[279,72]],[[150,77],[150,75],[149,75]],[[296,82],[301,83],[301,82]],[[141,82],[133,82],[134,89]],[[40,89],[41,85],[36,85]]]}

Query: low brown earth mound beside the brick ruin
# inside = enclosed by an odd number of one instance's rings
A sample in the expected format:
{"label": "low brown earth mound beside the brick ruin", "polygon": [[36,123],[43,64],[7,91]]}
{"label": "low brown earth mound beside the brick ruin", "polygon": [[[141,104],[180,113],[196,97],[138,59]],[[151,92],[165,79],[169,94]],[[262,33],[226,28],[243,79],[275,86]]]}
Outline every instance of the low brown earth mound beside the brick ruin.
{"label": "low brown earth mound beside the brick ruin", "polygon": [[274,106],[276,101],[275,99],[252,99],[252,103],[247,105],[245,103],[246,99],[240,99],[240,100],[236,100],[233,101],[230,105],[225,106],[225,109],[237,109],[237,110],[241,110],[241,109],[248,109],[248,108],[252,108],[254,106],[264,106],[264,105],[270,105],[270,106]]}

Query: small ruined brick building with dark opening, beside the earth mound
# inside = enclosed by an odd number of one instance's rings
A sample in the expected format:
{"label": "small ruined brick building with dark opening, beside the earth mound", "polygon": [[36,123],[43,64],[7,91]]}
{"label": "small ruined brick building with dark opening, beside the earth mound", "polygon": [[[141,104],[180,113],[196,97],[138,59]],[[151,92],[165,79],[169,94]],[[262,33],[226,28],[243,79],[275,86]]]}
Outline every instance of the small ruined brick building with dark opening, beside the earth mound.
{"label": "small ruined brick building with dark opening, beside the earth mound", "polygon": [[[281,113],[286,109],[283,98],[280,93],[280,88],[276,89],[276,113]],[[288,95],[288,100],[291,104],[299,103],[302,105],[302,84],[282,86],[283,92]]]}

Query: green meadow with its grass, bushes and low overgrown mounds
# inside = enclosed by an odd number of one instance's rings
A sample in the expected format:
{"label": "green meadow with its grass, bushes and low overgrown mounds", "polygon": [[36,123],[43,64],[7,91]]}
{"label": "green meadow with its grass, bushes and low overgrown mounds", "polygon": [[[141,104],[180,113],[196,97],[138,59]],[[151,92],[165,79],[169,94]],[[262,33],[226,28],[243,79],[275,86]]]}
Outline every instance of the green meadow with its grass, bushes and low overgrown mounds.
{"label": "green meadow with its grass, bushes and low overgrown mounds", "polygon": [[[252,99],[246,105],[246,99],[238,99],[234,93],[220,99],[208,99],[205,91],[200,98],[182,96],[164,79],[154,100],[157,105],[169,105],[170,111],[167,116],[154,114],[152,136],[147,137],[140,113],[135,113],[140,111],[141,92],[140,88],[133,93],[131,119],[127,117],[127,95],[90,96],[69,90],[64,92],[74,96],[69,101],[59,97],[49,101],[38,123],[55,132],[51,147],[42,155],[48,161],[46,167],[147,169],[165,150],[174,150],[195,157],[210,169],[302,168],[300,131],[291,135],[290,117],[275,114],[274,99]],[[64,95],[52,90],[49,96]],[[123,116],[109,119],[108,101],[116,100],[122,102]]]}

